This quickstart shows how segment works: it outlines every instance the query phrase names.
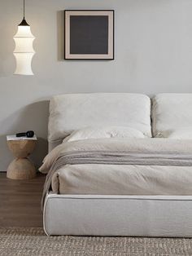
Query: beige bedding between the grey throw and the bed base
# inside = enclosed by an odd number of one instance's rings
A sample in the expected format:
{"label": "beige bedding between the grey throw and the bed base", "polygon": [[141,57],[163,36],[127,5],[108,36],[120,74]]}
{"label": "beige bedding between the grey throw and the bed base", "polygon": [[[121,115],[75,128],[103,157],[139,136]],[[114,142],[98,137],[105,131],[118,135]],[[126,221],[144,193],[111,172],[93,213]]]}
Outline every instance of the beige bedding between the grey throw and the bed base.
{"label": "beige bedding between the grey throw and the bed base", "polygon": [[55,172],[59,194],[192,195],[192,166],[66,165]]}

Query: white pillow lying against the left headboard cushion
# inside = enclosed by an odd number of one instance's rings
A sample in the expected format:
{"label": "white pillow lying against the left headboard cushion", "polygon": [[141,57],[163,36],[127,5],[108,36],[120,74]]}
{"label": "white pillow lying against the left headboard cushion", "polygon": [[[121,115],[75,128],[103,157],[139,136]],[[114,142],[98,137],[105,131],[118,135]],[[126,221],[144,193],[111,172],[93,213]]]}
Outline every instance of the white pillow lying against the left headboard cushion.
{"label": "white pillow lying against the left headboard cushion", "polygon": [[70,142],[80,139],[104,139],[104,138],[146,138],[140,130],[125,126],[85,127],[73,131],[71,135],[63,139]]}

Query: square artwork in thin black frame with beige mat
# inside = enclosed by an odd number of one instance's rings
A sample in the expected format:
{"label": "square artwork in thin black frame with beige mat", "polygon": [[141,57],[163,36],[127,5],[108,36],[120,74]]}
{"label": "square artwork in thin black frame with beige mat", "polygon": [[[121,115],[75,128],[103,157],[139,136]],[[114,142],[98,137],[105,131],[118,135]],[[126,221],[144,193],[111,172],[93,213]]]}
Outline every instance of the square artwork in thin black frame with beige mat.
{"label": "square artwork in thin black frame with beige mat", "polygon": [[114,60],[114,11],[64,11],[65,60]]}

